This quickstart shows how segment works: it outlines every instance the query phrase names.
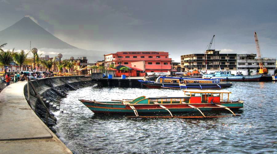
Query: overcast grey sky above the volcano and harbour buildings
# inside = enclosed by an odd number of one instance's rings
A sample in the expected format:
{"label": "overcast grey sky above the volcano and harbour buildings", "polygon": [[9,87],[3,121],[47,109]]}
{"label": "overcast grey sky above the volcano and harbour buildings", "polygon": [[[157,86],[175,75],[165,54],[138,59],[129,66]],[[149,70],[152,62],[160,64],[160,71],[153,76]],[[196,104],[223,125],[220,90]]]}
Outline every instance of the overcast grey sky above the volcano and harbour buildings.
{"label": "overcast grey sky above the volcano and harbour buildings", "polygon": [[78,48],[166,51],[176,62],[203,53],[213,35],[211,49],[256,53],[256,31],[263,57],[276,58],[276,8],[276,0],[0,0],[0,30],[28,15]]}

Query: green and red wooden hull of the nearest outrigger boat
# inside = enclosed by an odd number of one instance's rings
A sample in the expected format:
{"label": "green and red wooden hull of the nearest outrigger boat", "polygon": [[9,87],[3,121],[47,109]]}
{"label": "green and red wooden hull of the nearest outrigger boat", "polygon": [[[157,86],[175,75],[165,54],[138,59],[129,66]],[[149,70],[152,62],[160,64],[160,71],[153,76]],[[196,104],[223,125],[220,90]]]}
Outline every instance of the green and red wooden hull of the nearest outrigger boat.
{"label": "green and red wooden hull of the nearest outrigger boat", "polygon": [[[124,105],[121,102],[94,102],[80,99],[80,101],[88,107],[94,113],[108,113],[108,114],[134,114],[134,110],[130,105]],[[199,108],[201,111],[226,111],[224,107],[218,107],[212,103],[167,103],[167,104],[131,104],[138,113],[169,113],[160,105],[166,107],[171,111],[171,113],[183,113],[183,112],[198,112],[194,107]],[[231,110],[239,109],[243,107],[243,102],[238,103],[220,103],[219,105],[224,105]]]}

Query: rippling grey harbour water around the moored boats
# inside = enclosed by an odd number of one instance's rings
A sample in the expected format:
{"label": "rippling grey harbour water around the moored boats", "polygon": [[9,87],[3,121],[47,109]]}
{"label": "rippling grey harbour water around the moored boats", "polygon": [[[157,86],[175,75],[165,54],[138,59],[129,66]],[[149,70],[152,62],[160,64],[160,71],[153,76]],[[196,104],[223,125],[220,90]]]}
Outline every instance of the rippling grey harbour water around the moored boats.
{"label": "rippling grey harbour water around the moored boats", "polygon": [[[244,105],[237,117],[129,119],[94,115],[78,99],[105,101],[141,95],[183,95],[182,90],[86,87],[70,91],[57,113],[57,135],[74,153],[277,153],[275,82],[233,82],[230,99]],[[205,113],[204,113],[205,114]],[[229,113],[223,113],[229,114]],[[231,114],[231,113],[230,113]]]}

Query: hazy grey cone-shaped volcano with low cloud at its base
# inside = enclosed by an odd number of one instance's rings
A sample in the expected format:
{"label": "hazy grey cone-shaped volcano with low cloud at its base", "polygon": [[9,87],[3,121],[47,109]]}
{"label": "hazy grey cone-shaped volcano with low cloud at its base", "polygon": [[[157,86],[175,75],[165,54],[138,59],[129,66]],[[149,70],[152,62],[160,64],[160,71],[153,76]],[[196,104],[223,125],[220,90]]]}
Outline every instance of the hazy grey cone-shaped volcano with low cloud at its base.
{"label": "hazy grey cone-shaped volcano with low cloud at its base", "polygon": [[[88,57],[91,63],[95,60],[102,60],[103,54],[107,53],[74,47],[43,29],[29,16],[23,17],[12,26],[0,31],[0,42],[8,43],[5,49],[15,48],[16,51],[29,51],[30,41],[31,48],[36,47],[39,53],[53,57],[57,56],[58,53],[62,53],[63,58],[84,56]],[[83,55],[80,53],[83,53]]]}

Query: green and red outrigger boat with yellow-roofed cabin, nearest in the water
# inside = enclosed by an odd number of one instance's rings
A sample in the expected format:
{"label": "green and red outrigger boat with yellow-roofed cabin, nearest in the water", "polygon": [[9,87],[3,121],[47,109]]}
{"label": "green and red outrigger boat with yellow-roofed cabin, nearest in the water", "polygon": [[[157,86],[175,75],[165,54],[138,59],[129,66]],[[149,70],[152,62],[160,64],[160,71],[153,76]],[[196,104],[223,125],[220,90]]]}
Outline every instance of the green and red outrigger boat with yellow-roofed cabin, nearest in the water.
{"label": "green and red outrigger boat with yellow-roofed cabin, nearest in the water", "polygon": [[[146,97],[136,99],[112,100],[110,102],[98,102],[79,99],[86,107],[95,114],[134,114],[134,117],[171,118],[173,113],[200,112],[203,116],[197,118],[215,118],[218,116],[205,116],[203,111],[230,111],[243,107],[243,101],[229,100],[230,91],[226,90],[184,90],[181,97]],[[223,99],[227,94],[227,99]],[[142,113],[158,114],[168,113],[170,116],[140,116]],[[178,118],[178,117],[177,117]],[[193,117],[183,117],[193,118]]]}

